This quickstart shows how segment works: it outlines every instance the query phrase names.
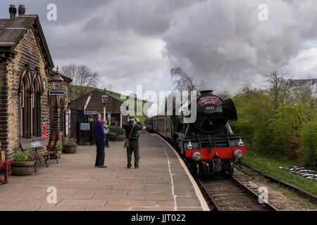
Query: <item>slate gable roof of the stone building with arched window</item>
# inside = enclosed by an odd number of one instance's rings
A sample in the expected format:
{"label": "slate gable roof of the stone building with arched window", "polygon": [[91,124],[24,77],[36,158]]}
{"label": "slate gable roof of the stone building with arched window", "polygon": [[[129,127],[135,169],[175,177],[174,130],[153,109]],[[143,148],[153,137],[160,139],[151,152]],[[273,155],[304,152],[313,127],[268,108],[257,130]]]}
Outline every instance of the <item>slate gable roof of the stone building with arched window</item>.
{"label": "slate gable roof of the stone building with arched window", "polygon": [[44,49],[44,55],[46,61],[49,63],[49,67],[54,68],[38,15],[18,15],[13,19],[0,19],[0,52],[14,53],[15,46],[32,25],[39,31],[39,36],[41,37],[40,44],[42,44]]}

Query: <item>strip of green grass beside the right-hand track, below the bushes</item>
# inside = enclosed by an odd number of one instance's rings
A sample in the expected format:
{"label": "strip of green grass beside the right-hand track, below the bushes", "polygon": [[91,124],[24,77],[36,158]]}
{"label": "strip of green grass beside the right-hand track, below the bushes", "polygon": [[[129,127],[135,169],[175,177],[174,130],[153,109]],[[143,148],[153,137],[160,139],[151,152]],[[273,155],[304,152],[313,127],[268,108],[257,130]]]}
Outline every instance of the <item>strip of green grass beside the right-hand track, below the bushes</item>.
{"label": "strip of green grass beside the right-hand track, below the bushes", "polygon": [[287,167],[298,165],[296,160],[287,160],[285,158],[278,158],[273,156],[268,156],[264,153],[259,153],[253,149],[247,149],[247,154],[243,156],[243,162],[260,169],[266,174],[274,176],[283,181],[287,181],[290,184],[294,184],[303,188],[310,193],[317,195],[317,182],[310,181],[302,176],[291,174],[285,170],[279,169],[279,167]]}

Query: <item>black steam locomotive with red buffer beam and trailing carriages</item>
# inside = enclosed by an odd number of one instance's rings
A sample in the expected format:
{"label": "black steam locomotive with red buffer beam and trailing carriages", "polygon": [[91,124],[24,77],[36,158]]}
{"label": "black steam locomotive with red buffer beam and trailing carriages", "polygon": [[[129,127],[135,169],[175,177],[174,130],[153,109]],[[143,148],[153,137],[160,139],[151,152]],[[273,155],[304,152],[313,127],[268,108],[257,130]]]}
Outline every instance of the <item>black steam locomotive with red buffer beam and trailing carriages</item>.
{"label": "black steam locomotive with red buffer beam and trailing carriages", "polygon": [[246,153],[241,136],[232,133],[228,120],[237,120],[237,110],[232,99],[223,101],[213,91],[200,91],[197,101],[197,120],[184,122],[184,114],[157,115],[145,120],[147,131],[167,139],[180,153],[189,170],[196,174],[233,174],[233,164]]}

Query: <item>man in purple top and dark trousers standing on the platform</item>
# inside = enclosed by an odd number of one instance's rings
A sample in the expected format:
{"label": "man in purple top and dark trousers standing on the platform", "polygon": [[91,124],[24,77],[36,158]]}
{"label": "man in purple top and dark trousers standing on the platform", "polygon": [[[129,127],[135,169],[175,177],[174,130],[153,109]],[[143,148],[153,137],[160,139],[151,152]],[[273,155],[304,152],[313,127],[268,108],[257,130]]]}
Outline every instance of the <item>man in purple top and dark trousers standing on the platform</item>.
{"label": "man in purple top and dark trousers standing on the platform", "polygon": [[96,163],[95,167],[99,168],[106,168],[104,165],[104,124],[101,122],[101,115],[97,113],[96,115],[96,122],[94,122],[94,137],[96,139],[96,146],[97,146],[97,155],[96,155]]}

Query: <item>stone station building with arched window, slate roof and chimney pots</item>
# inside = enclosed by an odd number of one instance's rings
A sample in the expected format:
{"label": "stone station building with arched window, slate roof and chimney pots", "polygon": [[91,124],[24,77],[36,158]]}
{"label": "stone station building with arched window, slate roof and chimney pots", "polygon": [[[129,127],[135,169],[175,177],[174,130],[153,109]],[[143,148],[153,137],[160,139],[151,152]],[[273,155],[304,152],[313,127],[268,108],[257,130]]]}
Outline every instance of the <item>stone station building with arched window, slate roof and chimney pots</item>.
{"label": "stone station building with arched window, slate roof and chimney pots", "polygon": [[[50,131],[64,134],[68,86],[72,81],[53,70],[54,63],[38,15],[10,6],[10,18],[0,19],[0,141],[6,158],[14,158],[21,143],[43,140]],[[65,96],[49,96],[51,79],[64,80]],[[51,124],[51,126],[50,126]]]}

